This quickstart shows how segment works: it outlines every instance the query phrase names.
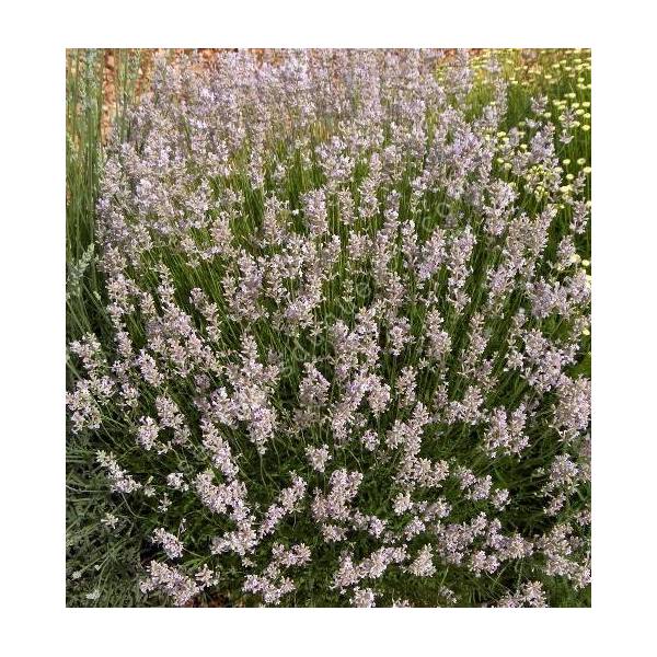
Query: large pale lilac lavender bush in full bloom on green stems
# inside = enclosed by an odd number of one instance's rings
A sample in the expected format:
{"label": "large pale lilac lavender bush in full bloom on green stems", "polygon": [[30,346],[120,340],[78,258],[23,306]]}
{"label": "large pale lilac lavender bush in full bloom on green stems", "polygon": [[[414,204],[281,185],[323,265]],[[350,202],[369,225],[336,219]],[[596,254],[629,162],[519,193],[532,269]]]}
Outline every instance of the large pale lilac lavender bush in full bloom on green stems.
{"label": "large pale lilac lavender bush in full bloom on green stems", "polygon": [[589,71],[158,64],[67,394],[140,603],[588,603]]}

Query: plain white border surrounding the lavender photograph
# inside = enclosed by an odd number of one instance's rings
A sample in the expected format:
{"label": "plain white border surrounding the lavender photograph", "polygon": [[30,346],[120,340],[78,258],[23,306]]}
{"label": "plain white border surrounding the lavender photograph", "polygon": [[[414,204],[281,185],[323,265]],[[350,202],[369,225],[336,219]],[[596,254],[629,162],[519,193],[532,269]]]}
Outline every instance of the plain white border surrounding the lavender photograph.
{"label": "plain white border surrounding the lavender photograph", "polygon": [[[645,654],[655,595],[657,152],[647,3],[14,7],[3,11],[0,124],[2,598],[11,608],[2,620],[3,644],[16,646],[5,654]],[[80,46],[592,47],[592,610],[65,609],[64,48]]]}

